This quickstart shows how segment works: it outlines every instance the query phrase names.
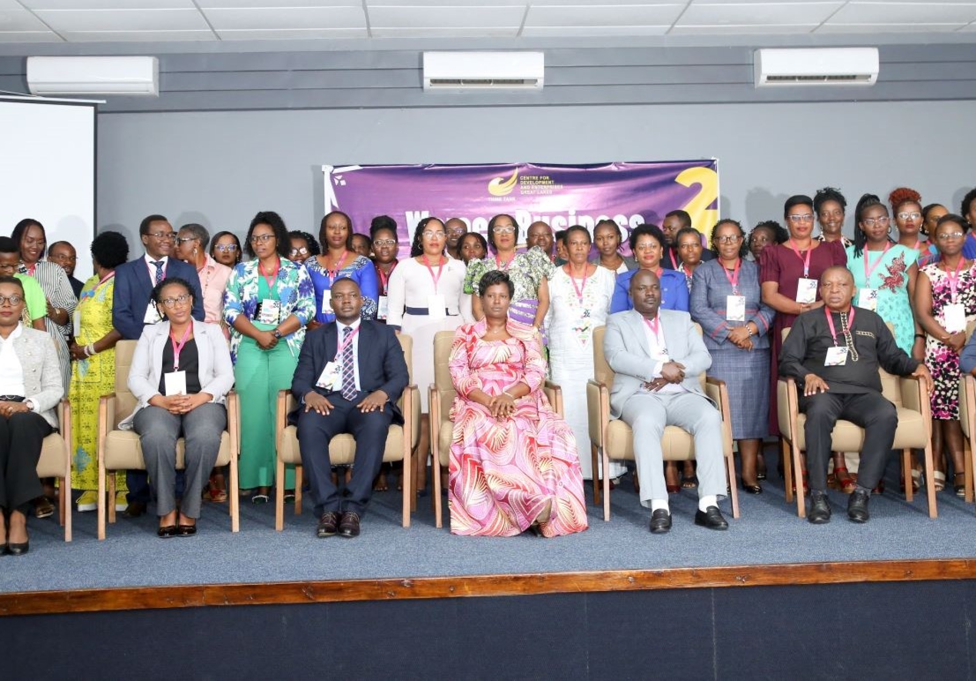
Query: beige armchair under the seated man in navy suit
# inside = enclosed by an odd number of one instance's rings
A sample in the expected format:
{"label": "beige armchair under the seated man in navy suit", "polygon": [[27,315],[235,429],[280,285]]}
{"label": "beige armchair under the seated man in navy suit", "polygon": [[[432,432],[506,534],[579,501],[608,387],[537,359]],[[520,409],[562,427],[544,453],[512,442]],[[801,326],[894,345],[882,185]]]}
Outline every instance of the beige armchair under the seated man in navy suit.
{"label": "beige armchair under the seated man in navy suit", "polygon": [[[413,381],[413,340],[400,334],[397,337],[403,348],[403,358],[407,362],[410,381]],[[411,451],[417,446],[420,434],[421,400],[420,391],[411,383],[400,395],[397,402],[403,414],[403,425],[390,425],[386,435],[386,449],[383,461],[403,461],[403,527],[410,527],[410,511],[416,504],[414,485],[410,476]],[[288,414],[296,409],[298,402],[291,390],[278,392],[275,413],[275,442],[278,443],[277,470],[274,498],[274,529],[281,532],[285,527],[285,466],[295,465],[295,515],[302,515],[302,451],[299,448],[298,426],[288,424]],[[329,443],[329,461],[333,465],[351,465],[355,461],[356,441],[352,435],[343,433],[332,438]]]}

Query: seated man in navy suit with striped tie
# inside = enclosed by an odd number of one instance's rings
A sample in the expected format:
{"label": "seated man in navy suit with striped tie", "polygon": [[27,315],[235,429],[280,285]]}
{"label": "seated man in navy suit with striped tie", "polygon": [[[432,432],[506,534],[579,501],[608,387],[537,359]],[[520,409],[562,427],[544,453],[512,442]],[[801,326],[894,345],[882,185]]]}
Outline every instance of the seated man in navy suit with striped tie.
{"label": "seated man in navy suit with striped tie", "polygon": [[[305,336],[292,392],[302,404],[298,422],[302,465],[318,516],[318,537],[358,537],[359,522],[380,472],[390,423],[403,423],[396,407],[410,376],[391,327],[359,318],[362,293],[351,279],[332,285],[336,321]],[[293,421],[294,422],[294,421]],[[356,440],[346,496],[332,482],[329,442],[340,433]]]}

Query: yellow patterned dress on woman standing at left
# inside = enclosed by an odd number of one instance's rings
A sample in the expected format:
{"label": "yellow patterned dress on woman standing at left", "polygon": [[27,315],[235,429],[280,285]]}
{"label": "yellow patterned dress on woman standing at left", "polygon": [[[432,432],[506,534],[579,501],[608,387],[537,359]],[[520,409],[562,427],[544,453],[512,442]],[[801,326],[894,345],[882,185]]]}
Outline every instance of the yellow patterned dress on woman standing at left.
{"label": "yellow patterned dress on woman standing at left", "polygon": [[[98,275],[85,282],[78,300],[81,329],[79,345],[101,340],[112,330],[114,272],[100,282]],[[99,398],[115,390],[115,348],[78,360],[73,365],[71,388],[71,487],[75,490],[99,489]],[[115,489],[126,492],[125,471],[115,473]]]}

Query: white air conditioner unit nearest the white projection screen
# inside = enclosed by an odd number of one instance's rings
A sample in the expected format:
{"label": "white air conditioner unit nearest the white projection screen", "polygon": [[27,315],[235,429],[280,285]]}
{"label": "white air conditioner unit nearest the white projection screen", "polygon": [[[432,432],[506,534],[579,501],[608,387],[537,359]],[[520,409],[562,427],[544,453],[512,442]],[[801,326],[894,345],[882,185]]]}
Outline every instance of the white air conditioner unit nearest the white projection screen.
{"label": "white air conditioner unit nearest the white projection screen", "polygon": [[34,95],[159,96],[155,57],[28,57]]}

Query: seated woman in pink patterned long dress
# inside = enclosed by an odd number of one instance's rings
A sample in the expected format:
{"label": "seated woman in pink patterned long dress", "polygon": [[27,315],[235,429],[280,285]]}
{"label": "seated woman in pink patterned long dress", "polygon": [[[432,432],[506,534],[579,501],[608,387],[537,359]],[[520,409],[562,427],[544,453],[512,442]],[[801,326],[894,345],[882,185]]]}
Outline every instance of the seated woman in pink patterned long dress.
{"label": "seated woman in pink patterned long dress", "polygon": [[478,286],[484,319],[458,327],[451,377],[448,500],[455,535],[544,537],[586,530],[583,474],[573,430],[543,392],[539,333],[508,318],[514,285],[500,270]]}

